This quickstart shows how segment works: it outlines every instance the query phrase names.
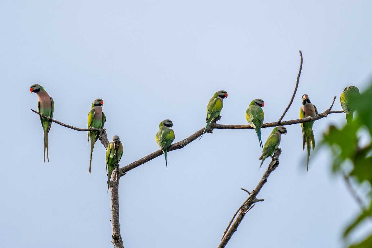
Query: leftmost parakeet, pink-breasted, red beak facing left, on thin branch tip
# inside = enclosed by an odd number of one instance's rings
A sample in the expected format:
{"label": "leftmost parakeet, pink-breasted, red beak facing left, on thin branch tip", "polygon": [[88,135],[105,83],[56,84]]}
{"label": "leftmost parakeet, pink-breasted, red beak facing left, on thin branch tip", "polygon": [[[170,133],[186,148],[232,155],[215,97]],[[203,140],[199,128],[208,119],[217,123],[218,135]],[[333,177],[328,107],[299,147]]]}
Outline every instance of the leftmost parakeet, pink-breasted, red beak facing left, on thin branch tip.
{"label": "leftmost parakeet, pink-breasted, red beak facing left, on thin branch tip", "polygon": [[42,118],[40,116],[41,125],[43,126],[44,130],[44,162],[45,162],[45,148],[47,148],[47,159],[49,162],[49,154],[48,154],[48,133],[50,130],[50,126],[52,122],[49,120],[53,118],[53,111],[54,111],[54,102],[53,98],[50,97],[47,91],[44,90],[39,84],[33,84],[30,86],[30,91],[35,92],[38,95],[38,111],[43,115],[49,117],[48,119]]}

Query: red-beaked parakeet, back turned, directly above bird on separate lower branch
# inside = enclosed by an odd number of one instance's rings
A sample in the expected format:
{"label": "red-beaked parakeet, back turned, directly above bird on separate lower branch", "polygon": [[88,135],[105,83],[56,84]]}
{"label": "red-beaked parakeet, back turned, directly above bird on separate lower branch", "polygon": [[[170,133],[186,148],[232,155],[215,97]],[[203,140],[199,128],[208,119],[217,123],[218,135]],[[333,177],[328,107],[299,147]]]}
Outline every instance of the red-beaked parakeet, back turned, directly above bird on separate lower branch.
{"label": "red-beaked parakeet, back turned, directly above bird on separate lower branch", "polygon": [[262,99],[254,99],[246,111],[246,119],[249,125],[256,129],[257,137],[260,142],[260,147],[262,148],[262,139],[261,139],[261,128],[263,124],[263,110],[262,107],[265,105]]}

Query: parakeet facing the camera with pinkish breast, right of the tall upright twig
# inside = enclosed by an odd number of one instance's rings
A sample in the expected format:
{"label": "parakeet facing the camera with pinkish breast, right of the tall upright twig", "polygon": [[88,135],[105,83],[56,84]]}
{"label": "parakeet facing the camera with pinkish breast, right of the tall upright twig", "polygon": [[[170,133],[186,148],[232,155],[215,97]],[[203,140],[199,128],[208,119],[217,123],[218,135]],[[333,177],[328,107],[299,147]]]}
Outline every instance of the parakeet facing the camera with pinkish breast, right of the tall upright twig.
{"label": "parakeet facing the camera with pinkish breast, right of the tall upright twig", "polygon": [[[302,106],[300,108],[300,119],[313,117],[318,113],[317,107],[310,102],[308,95],[302,95],[301,100]],[[310,144],[313,150],[315,147],[314,132],[312,131],[313,124],[313,121],[301,123],[302,138],[304,139],[302,149],[305,150],[305,144],[307,146],[307,170],[309,170]]]}

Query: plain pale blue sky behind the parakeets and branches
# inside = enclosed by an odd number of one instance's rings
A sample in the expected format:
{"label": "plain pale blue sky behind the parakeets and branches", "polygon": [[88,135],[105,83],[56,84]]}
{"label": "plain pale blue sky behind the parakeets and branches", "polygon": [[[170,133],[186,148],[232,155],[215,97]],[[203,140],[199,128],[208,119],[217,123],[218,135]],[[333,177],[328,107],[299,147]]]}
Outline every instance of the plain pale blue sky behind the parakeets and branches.
{"label": "plain pale blue sky behind the parakeets and branches", "polygon": [[[371,78],[371,1],[1,1],[0,167],[2,247],[112,247],[105,148],[55,123],[43,163],[36,94],[54,99],[54,118],[85,128],[92,101],[105,102],[108,137],[124,145],[121,166],[157,150],[155,133],[173,121],[178,142],[205,126],[205,108],[226,90],[221,124],[247,124],[261,98],[265,123],[297,119],[301,94],[319,112],[351,84]],[[7,87],[5,87],[7,86]],[[343,114],[314,123],[315,141]],[[228,247],[341,247],[357,213],[328,152],[306,173],[299,125],[287,126],[279,168]],[[263,129],[263,142],[271,132]],[[215,130],[121,178],[124,246],[217,247],[231,216],[253,189],[261,149],[252,130]],[[263,167],[269,161],[265,161]],[[363,235],[363,231],[360,234]]]}

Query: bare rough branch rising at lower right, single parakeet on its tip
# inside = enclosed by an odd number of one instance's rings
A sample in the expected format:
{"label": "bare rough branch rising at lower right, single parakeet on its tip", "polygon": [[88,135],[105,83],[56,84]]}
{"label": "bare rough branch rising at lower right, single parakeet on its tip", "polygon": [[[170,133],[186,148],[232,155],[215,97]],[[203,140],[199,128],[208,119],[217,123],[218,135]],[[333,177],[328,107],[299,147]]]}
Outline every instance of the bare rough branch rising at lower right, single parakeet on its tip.
{"label": "bare rough branch rising at lower right, single parakeet on its tip", "polygon": [[[227,243],[229,242],[231,236],[237,231],[238,226],[240,225],[241,221],[243,220],[246,213],[254,206],[254,203],[262,201],[257,199],[257,194],[260,192],[264,184],[267,182],[267,178],[269,177],[270,173],[272,173],[279,165],[279,156],[282,153],[280,148],[276,149],[275,153],[273,154],[273,158],[267,167],[266,171],[264,172],[261,180],[257,184],[256,188],[252,190],[251,194],[249,195],[248,199],[244,201],[244,203],[240,207],[240,211],[237,211],[238,215],[233,217],[234,222],[227,226],[227,231],[225,231],[224,235],[222,236],[221,242],[219,243],[217,248],[224,248]],[[236,215],[236,213],[235,213]]]}

